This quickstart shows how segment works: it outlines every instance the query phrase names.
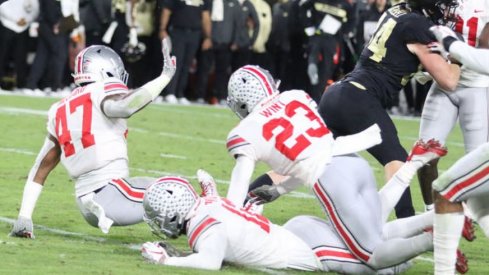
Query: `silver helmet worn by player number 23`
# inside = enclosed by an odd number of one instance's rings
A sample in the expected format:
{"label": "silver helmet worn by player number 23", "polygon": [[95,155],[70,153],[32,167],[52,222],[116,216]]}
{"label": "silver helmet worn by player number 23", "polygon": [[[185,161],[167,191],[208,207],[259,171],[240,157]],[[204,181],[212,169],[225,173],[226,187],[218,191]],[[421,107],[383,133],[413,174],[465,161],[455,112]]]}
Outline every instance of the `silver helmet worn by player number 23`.
{"label": "silver helmet worn by player number 23", "polygon": [[243,119],[259,102],[277,93],[278,85],[267,70],[247,65],[236,70],[229,78],[227,103]]}

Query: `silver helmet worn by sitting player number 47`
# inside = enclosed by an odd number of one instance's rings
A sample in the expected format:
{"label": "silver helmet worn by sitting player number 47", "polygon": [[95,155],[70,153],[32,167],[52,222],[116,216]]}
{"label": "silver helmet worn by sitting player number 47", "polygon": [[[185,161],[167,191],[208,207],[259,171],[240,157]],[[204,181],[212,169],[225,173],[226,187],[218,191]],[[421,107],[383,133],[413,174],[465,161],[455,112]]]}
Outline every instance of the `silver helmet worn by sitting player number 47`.
{"label": "silver helmet worn by sitting player number 47", "polygon": [[90,46],[75,59],[72,74],[76,85],[115,77],[127,84],[128,73],[120,56],[111,48],[101,45]]}

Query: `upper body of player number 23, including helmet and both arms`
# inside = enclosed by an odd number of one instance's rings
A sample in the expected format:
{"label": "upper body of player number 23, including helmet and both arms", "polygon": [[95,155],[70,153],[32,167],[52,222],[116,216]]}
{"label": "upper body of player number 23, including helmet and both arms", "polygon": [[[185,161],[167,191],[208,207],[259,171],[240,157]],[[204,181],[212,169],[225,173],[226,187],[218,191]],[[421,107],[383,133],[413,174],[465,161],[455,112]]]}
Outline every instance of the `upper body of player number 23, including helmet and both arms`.
{"label": "upper body of player number 23, including helmet and both arms", "polygon": [[228,84],[228,105],[241,119],[227,138],[236,160],[227,198],[242,206],[255,163],[263,161],[281,175],[279,194],[312,184],[333,154],[357,152],[381,142],[373,125],[359,135],[333,139],[316,102],[301,90],[279,93],[270,73],[247,65]]}

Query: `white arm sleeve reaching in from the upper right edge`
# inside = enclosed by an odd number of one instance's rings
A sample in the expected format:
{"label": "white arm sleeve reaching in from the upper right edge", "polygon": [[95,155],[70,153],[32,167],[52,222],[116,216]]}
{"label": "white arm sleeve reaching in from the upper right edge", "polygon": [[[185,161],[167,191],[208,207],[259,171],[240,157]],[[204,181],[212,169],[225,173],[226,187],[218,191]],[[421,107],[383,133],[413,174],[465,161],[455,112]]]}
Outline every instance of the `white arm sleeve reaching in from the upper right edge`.
{"label": "white arm sleeve reaching in from the upper right edge", "polygon": [[450,54],[465,67],[489,75],[489,50],[470,47],[462,41],[450,46]]}

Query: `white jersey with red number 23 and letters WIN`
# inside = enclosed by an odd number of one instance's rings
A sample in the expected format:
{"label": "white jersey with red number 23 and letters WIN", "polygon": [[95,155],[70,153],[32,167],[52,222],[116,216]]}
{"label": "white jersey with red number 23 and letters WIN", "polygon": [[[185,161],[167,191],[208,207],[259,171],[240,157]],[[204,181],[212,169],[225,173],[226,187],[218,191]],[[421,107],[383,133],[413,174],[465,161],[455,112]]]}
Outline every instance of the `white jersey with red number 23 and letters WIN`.
{"label": "white jersey with red number 23 and letters WIN", "polygon": [[228,135],[233,157],[245,155],[267,163],[281,175],[314,184],[331,159],[333,137],[304,91],[291,90],[268,99]]}

